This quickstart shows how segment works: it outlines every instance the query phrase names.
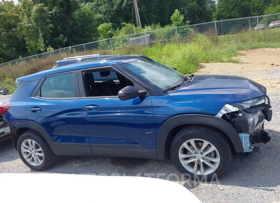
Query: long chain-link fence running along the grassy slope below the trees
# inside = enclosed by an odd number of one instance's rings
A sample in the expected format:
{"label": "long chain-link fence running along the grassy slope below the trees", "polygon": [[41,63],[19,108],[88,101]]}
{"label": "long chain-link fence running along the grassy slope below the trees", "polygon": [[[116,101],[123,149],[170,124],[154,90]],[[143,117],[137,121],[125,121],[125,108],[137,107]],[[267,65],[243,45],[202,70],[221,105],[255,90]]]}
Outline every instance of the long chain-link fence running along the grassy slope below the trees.
{"label": "long chain-link fence running along the grassy slope below the trees", "polygon": [[38,61],[39,59],[45,59],[57,54],[62,55],[77,52],[81,54],[84,52],[86,55],[87,52],[92,52],[94,50],[96,50],[96,52],[98,52],[98,50],[109,51],[131,45],[144,45],[151,47],[154,43],[164,44],[178,41],[187,43],[194,37],[195,34],[198,33],[216,37],[219,35],[230,35],[272,28],[279,28],[278,32],[280,33],[280,13],[265,16],[219,20],[215,22],[200,23],[196,25],[152,30],[148,32],[119,36],[110,39],[99,40],[96,42],[61,48],[35,56],[20,58],[14,61],[2,63],[0,66],[21,65],[22,63]]}

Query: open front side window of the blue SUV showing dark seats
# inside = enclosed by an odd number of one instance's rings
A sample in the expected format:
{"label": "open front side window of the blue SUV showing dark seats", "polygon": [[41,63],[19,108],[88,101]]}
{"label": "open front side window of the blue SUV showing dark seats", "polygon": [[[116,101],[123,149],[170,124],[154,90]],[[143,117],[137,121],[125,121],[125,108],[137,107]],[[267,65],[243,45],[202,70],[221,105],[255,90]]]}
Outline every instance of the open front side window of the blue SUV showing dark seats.
{"label": "open front side window of the blue SUV showing dark seats", "polygon": [[87,97],[118,96],[122,88],[133,86],[133,82],[109,70],[84,73],[84,84]]}

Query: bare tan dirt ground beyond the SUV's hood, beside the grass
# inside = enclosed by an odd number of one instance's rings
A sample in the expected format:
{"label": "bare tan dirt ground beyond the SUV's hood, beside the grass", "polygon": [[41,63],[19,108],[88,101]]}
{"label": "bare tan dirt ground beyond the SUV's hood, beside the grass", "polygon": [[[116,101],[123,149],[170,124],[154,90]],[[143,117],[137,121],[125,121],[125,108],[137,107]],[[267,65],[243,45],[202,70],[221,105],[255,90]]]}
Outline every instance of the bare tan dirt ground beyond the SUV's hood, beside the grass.
{"label": "bare tan dirt ground beyond the SUV's hood, beside the grass", "polygon": [[268,92],[280,89],[280,48],[240,51],[235,57],[239,63],[202,64],[197,74],[239,75],[250,78],[267,88]]}

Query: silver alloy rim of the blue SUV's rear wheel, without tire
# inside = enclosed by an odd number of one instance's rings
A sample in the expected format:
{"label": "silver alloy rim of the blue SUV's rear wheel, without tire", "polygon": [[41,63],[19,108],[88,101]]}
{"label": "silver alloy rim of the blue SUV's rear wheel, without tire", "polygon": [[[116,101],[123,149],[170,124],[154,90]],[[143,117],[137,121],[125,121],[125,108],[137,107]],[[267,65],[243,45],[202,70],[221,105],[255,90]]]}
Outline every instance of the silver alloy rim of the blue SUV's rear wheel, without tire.
{"label": "silver alloy rim of the blue SUV's rear wheel, without tire", "polygon": [[37,142],[31,139],[21,143],[21,154],[23,158],[33,166],[39,166],[44,161],[44,152],[42,148]]}

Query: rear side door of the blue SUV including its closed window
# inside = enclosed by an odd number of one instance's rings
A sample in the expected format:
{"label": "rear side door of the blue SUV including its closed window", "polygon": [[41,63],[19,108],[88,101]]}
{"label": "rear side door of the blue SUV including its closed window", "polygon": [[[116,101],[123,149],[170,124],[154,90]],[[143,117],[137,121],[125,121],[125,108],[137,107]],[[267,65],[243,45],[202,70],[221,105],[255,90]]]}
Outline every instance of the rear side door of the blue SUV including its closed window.
{"label": "rear side door of the blue SUV including its closed window", "polygon": [[91,152],[80,107],[77,71],[43,78],[26,105],[26,116],[47,132],[55,146],[53,151],[59,151],[56,154]]}

